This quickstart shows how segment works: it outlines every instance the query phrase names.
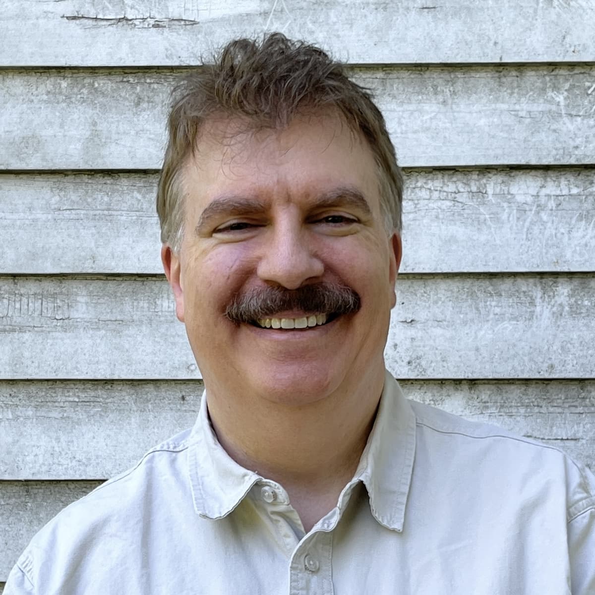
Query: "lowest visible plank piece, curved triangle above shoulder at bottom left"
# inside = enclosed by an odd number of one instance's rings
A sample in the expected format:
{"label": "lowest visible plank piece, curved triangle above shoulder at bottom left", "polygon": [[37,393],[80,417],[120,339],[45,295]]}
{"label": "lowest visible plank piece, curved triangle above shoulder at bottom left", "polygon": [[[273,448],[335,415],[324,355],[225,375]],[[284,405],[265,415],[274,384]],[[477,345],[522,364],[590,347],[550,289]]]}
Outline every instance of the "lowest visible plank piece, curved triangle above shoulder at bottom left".
{"label": "lowest visible plank piece, curved triangle above shoulder at bottom left", "polygon": [[0,481],[0,581],[43,525],[101,481]]}

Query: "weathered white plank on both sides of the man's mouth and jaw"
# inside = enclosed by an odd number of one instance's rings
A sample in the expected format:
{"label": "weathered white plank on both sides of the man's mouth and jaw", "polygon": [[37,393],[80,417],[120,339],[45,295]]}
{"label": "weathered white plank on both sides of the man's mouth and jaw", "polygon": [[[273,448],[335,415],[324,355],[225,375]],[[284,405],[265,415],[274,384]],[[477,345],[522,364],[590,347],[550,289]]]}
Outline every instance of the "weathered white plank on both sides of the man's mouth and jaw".
{"label": "weathered white plank on both sides of the man's mouth and jaw", "polygon": [[[403,276],[404,378],[591,378],[595,277]],[[0,278],[0,378],[199,378],[164,278]],[[167,354],[167,355],[164,355]]]}

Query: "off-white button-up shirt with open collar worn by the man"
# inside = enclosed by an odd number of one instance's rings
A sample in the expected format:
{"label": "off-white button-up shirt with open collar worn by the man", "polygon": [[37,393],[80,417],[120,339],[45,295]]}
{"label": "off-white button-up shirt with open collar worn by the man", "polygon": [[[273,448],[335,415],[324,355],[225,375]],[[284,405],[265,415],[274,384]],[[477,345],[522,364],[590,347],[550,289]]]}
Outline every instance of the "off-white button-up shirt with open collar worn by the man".
{"label": "off-white button-up shirt with open collar worn by the man", "polygon": [[304,534],[286,491],[218,444],[205,399],[44,527],[5,595],[595,594],[595,478],[551,446],[408,402],[387,374],[336,508]]}

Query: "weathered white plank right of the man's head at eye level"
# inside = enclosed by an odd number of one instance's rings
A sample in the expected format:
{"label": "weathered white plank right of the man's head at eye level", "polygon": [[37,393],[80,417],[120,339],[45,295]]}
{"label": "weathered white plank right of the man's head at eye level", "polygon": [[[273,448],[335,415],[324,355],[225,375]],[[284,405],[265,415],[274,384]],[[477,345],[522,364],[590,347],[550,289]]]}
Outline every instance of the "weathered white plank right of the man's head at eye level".
{"label": "weathered white plank right of the man's head at eye level", "polygon": [[595,271],[594,193],[595,168],[409,171],[402,270]]}

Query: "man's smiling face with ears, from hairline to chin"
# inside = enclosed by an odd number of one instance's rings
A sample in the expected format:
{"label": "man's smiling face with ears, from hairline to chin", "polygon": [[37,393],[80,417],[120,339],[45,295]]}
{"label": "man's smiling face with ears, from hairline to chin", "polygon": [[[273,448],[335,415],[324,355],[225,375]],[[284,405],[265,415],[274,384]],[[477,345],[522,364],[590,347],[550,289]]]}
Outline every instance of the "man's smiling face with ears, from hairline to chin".
{"label": "man's smiling face with ears, from hairline to chin", "polygon": [[[281,131],[211,123],[183,190],[184,239],[177,256],[164,248],[164,264],[208,390],[306,404],[383,374],[400,241],[384,230],[372,152],[347,124],[333,112]],[[359,308],[305,311],[298,300],[264,305],[260,320],[226,315],[253,293],[262,306],[271,292],[321,284],[350,288]]]}

